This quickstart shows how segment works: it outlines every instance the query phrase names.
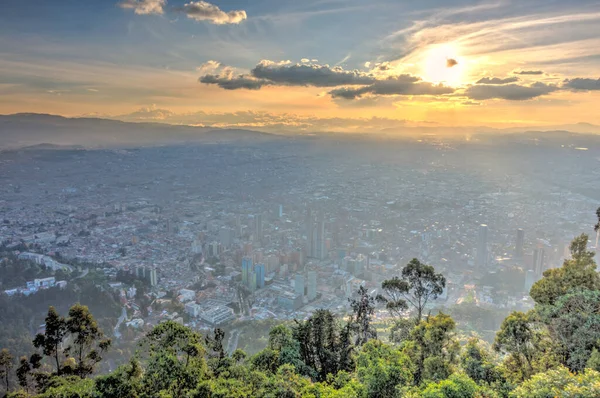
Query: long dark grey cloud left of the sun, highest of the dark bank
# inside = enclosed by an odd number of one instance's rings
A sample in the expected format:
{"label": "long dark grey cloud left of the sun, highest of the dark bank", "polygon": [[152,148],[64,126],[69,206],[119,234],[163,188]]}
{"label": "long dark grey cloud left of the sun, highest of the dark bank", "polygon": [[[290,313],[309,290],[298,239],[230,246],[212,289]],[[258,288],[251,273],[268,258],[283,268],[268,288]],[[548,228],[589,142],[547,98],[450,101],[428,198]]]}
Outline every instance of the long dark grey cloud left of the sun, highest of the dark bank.
{"label": "long dark grey cloud left of the sun, highest of the dark bank", "polygon": [[290,64],[261,61],[252,76],[287,86],[335,87],[341,85],[366,85],[375,77],[365,72],[344,70],[341,66],[317,64]]}

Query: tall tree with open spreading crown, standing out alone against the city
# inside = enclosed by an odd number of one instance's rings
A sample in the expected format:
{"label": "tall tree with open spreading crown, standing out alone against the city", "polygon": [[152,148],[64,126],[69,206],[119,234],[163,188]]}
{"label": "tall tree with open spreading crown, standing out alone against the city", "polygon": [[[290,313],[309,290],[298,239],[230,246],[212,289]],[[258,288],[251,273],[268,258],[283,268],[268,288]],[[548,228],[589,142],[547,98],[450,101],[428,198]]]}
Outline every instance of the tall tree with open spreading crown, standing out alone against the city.
{"label": "tall tree with open spreading crown, standing out alone against the city", "polygon": [[442,274],[436,274],[431,265],[413,258],[402,269],[400,278],[383,281],[381,288],[385,295],[377,298],[396,317],[408,309],[410,304],[417,311],[417,322],[420,322],[427,303],[442,294],[445,287],[446,278]]}

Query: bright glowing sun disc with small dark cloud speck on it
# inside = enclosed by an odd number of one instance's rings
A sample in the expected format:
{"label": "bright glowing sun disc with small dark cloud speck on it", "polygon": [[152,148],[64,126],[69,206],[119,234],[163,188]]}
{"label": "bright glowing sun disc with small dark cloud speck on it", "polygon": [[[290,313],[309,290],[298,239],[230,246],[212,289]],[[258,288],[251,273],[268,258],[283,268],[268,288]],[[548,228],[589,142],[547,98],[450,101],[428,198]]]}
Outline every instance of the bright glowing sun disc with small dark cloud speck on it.
{"label": "bright glowing sun disc with small dark cloud speck on it", "polygon": [[456,46],[435,45],[425,53],[423,79],[432,83],[459,86],[463,82],[465,66]]}

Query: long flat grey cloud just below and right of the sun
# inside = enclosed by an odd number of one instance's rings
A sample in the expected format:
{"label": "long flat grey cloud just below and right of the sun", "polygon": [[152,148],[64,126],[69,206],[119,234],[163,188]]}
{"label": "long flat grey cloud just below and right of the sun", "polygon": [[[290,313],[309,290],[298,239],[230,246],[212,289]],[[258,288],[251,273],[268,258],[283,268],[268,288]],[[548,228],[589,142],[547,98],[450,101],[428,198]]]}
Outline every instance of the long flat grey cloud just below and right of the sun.
{"label": "long flat grey cloud just below and right of the sun", "polygon": [[530,86],[518,84],[490,85],[478,84],[468,87],[464,94],[473,100],[505,99],[510,101],[526,101],[557,91],[559,88],[544,83],[534,83]]}

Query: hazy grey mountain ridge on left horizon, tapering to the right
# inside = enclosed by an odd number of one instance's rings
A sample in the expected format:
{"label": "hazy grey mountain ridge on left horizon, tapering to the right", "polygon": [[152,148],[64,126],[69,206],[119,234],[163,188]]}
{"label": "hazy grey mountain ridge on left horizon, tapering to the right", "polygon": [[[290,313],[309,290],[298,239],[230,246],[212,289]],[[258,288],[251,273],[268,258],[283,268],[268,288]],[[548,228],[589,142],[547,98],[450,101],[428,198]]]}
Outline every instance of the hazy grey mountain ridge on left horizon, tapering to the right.
{"label": "hazy grey mountain ridge on left horizon, tapering to the right", "polygon": [[274,134],[159,123],[128,123],[98,118],[66,118],[18,113],[0,115],[0,148],[119,147],[188,142],[277,139]]}

